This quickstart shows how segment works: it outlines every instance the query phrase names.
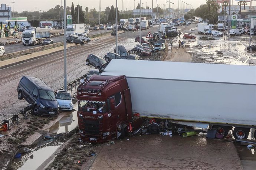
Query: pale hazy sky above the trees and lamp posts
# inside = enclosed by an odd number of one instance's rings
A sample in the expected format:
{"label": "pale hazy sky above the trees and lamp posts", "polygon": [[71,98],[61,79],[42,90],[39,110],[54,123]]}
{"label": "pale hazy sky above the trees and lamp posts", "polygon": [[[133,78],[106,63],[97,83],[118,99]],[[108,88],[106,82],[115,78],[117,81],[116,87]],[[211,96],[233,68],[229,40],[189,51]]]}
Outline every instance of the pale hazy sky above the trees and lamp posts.
{"label": "pale hazy sky above the trees and lamp posts", "polygon": [[[12,7],[12,10],[14,8],[14,11],[17,11],[21,13],[22,11],[47,11],[50,8],[54,8],[56,5],[62,5],[64,6],[64,0],[0,0],[1,4],[6,4],[8,6]],[[120,11],[122,11],[122,1],[124,1],[124,10],[134,9],[137,7],[140,0],[117,0],[117,6]],[[169,0],[166,0],[169,1]],[[170,2],[173,1],[173,8],[178,8],[178,0],[170,0]],[[12,4],[14,2],[14,4]],[[99,0],[66,0],[66,6],[70,6],[72,2],[74,3],[74,6],[76,6],[78,3],[80,6],[82,6],[83,10],[85,10],[85,7],[87,6],[89,9],[96,8],[96,10],[99,10]],[[206,0],[183,0],[183,3],[191,4],[191,8],[197,8],[201,4],[205,4]],[[153,0],[153,8],[157,7],[163,8],[165,6],[165,0]],[[129,6],[128,6],[129,4]],[[116,0],[101,0],[101,11],[104,11],[107,6],[116,6]],[[152,7],[152,0],[141,0],[141,6],[144,8],[149,6]],[[184,4],[185,5],[185,4]],[[167,8],[169,7],[169,4],[167,3]],[[188,6],[187,6],[188,7]],[[171,4],[170,4],[171,8]]]}

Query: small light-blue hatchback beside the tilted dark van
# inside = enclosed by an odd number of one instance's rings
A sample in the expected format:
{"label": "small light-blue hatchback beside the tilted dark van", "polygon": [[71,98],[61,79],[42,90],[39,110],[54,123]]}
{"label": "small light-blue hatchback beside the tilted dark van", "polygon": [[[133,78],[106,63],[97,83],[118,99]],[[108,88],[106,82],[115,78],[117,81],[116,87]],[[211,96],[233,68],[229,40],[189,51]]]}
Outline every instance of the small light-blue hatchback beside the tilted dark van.
{"label": "small light-blue hatchback beside the tilted dark van", "polygon": [[55,96],[59,103],[60,110],[71,111],[73,109],[72,97],[68,91],[60,89],[56,92]]}

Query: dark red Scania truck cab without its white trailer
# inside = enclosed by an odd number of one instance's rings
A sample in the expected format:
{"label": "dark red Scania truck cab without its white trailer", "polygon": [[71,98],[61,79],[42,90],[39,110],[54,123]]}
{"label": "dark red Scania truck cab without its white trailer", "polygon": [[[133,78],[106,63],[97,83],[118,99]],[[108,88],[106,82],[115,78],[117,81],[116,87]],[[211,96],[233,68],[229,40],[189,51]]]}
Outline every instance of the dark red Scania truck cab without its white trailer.
{"label": "dark red Scania truck cab without its white trailer", "polygon": [[83,141],[107,142],[127,133],[132,105],[125,75],[93,75],[78,86],[76,98]]}

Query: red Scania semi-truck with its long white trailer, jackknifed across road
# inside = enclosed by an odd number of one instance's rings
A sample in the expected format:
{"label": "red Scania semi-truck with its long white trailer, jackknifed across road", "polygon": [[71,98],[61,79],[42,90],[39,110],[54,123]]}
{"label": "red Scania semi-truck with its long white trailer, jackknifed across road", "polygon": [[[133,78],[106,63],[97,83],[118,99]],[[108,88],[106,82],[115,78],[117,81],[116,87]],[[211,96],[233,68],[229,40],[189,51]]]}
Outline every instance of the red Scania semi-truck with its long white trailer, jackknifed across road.
{"label": "red Scania semi-truck with its long white trailer, jackknifed across road", "polygon": [[[112,59],[99,72],[78,87],[84,141],[104,142],[127,132],[132,113],[216,128],[224,136],[234,127],[236,139],[246,139],[256,127],[255,66]],[[90,102],[105,108],[98,112]]]}

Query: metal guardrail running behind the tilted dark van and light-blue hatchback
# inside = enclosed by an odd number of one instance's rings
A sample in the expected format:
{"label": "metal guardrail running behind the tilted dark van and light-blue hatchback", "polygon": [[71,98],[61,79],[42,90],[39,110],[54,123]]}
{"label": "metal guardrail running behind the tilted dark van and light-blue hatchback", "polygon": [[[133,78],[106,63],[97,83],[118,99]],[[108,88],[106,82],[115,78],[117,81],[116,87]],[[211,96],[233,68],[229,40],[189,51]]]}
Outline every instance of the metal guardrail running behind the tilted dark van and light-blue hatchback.
{"label": "metal guardrail running behind the tilted dark van and light-blue hatchback", "polygon": [[[85,75],[79,77],[78,79],[75,79],[74,81],[68,83],[68,85],[67,85],[67,90],[68,90],[68,91],[70,90],[70,91],[72,92],[72,91],[73,91],[73,88],[76,89],[77,86],[79,86],[79,85],[81,84],[81,79],[86,78],[86,75],[87,75],[87,74],[85,74]],[[64,88],[64,86],[63,86],[62,88],[59,88],[59,89],[63,89],[63,88]],[[59,90],[59,89],[58,89],[58,90]],[[56,90],[56,91],[58,91],[58,90]],[[56,92],[56,91],[55,91],[55,92]],[[26,108],[20,110],[19,112],[13,114],[12,116],[9,116],[9,117],[5,118],[4,120],[0,121],[0,127],[1,127],[4,123],[7,123],[7,130],[10,130],[9,127],[10,127],[10,125],[14,122],[14,121],[11,121],[11,120],[14,120],[14,119],[16,119],[16,124],[19,125],[19,114],[23,114],[24,119],[27,119],[27,113],[30,113],[31,108],[32,108],[32,106],[29,105],[29,106],[27,106]]]}

